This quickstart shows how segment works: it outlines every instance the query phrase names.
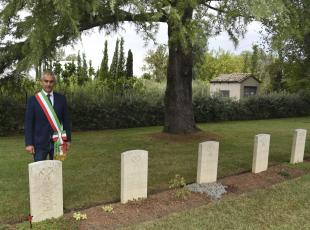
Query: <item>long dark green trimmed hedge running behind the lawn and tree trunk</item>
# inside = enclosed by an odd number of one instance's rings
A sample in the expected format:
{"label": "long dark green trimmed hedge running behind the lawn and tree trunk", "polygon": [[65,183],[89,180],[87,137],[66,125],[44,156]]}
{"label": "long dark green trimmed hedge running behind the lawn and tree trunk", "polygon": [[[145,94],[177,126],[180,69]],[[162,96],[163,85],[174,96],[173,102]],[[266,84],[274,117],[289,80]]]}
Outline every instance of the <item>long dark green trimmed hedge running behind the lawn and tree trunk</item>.
{"label": "long dark green trimmed hedge running behind the lawn and tree trunk", "polygon": [[[127,92],[121,96],[89,89],[63,92],[68,98],[73,130],[101,130],[163,125],[163,92]],[[234,101],[196,94],[196,122],[252,120],[310,115],[310,95],[278,93]],[[0,135],[22,132],[25,97],[0,97]]]}

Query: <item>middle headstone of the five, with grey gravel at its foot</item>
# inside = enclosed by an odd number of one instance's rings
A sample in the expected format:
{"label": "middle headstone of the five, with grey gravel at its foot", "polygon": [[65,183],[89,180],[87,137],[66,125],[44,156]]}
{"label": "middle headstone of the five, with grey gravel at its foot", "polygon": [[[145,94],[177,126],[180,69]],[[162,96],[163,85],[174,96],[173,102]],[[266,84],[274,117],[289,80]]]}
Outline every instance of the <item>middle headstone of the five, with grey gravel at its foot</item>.
{"label": "middle headstone of the five, with grey gravel at its foot", "polygon": [[219,143],[206,141],[199,144],[197,183],[212,183],[217,179]]}

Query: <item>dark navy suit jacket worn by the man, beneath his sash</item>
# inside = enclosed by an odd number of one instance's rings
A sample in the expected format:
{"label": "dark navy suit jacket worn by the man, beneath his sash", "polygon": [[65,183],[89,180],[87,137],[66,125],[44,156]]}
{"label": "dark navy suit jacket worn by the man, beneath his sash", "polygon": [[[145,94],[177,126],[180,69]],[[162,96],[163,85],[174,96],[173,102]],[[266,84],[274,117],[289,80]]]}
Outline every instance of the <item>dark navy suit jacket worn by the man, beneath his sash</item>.
{"label": "dark navy suit jacket worn by the man, beneath his sash", "polygon": [[[59,122],[67,133],[68,141],[71,141],[71,128],[69,123],[69,114],[67,100],[65,96],[53,92],[54,110]],[[26,146],[34,145],[36,148],[47,148],[50,146],[51,137],[54,131],[48,122],[39,102],[32,96],[27,101],[27,110],[25,115],[25,142]]]}

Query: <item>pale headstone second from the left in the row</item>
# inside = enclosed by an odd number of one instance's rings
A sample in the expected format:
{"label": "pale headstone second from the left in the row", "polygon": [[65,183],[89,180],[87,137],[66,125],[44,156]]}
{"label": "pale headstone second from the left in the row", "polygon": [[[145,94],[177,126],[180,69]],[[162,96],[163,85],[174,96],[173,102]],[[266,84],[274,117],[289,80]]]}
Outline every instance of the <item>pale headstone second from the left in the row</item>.
{"label": "pale headstone second from the left in the row", "polygon": [[132,150],[121,156],[121,203],[147,197],[148,152]]}

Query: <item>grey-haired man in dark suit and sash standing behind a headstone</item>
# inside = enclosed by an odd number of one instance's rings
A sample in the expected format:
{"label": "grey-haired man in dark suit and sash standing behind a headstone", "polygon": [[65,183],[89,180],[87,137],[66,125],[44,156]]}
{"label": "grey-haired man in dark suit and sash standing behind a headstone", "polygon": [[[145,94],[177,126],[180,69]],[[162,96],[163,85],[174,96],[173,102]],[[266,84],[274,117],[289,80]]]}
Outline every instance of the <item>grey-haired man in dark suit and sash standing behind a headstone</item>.
{"label": "grey-haired man in dark suit and sash standing behind a headstone", "polygon": [[[40,79],[42,91],[28,99],[25,116],[26,151],[34,161],[54,159],[55,141],[69,149],[71,129],[66,98],[53,92],[55,75],[45,71]],[[53,140],[54,139],[54,140]]]}

